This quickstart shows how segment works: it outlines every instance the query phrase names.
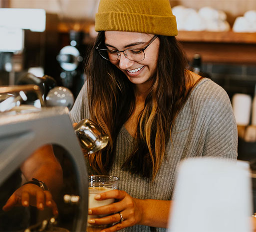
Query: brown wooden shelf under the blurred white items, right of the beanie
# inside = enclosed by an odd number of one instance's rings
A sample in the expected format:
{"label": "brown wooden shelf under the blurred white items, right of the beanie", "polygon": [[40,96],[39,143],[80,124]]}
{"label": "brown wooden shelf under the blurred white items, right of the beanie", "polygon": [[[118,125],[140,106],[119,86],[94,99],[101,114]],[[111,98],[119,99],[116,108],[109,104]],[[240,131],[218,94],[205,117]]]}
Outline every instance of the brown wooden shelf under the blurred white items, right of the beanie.
{"label": "brown wooden shelf under the blurred white items, right of the beanie", "polygon": [[177,39],[189,60],[199,53],[208,63],[256,64],[256,33],[179,31]]}

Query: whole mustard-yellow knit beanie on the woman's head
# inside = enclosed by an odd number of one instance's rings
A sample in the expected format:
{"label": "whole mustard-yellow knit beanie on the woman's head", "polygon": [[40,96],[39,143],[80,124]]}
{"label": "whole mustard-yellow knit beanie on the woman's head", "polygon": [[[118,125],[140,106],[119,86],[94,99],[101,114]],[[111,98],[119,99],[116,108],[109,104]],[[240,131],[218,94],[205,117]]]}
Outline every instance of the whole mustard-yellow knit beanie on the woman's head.
{"label": "whole mustard-yellow knit beanie on the woman's head", "polygon": [[178,34],[169,0],[100,0],[95,30]]}

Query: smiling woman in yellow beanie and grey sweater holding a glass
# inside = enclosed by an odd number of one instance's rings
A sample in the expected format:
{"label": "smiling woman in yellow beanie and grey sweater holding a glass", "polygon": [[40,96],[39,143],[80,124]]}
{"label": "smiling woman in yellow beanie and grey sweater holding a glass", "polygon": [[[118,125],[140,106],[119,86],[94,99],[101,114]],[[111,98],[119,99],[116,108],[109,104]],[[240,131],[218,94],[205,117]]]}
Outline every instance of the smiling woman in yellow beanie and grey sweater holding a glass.
{"label": "smiling woman in yellow beanie and grey sweater holding a glass", "polygon": [[[119,190],[89,209],[104,232],[166,231],[176,168],[184,158],[237,157],[237,127],[226,92],[187,70],[169,0],[101,0],[87,81],[70,113],[109,135],[91,155],[93,174],[120,178]],[[119,213],[117,213],[119,212]]]}

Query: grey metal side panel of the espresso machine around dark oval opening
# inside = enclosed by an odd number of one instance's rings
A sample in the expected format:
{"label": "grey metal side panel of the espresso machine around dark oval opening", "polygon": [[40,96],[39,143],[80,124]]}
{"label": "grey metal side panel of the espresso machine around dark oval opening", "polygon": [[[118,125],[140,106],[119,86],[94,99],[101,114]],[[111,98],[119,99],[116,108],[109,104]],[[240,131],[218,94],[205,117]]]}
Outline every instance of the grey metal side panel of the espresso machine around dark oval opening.
{"label": "grey metal side panel of the espresso machine around dark oval opening", "polygon": [[[64,148],[73,163],[77,189],[73,194],[62,194],[63,197],[66,195],[65,199],[70,196],[69,203],[64,199],[60,202],[63,202],[62,208],[65,205],[74,208],[72,212],[75,212],[75,215],[72,216],[70,230],[85,231],[88,210],[87,171],[67,108],[42,108],[34,112],[30,110],[27,113],[14,115],[4,113],[0,116],[0,185],[34,150],[45,144]],[[76,197],[76,202],[71,202],[72,196]],[[59,214],[61,215],[60,210]]]}

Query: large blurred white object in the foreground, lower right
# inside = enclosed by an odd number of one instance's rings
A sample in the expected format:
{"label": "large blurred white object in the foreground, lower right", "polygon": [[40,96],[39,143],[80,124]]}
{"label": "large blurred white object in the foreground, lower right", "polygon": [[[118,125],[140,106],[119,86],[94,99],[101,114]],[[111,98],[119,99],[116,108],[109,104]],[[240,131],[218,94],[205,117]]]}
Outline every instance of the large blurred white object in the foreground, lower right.
{"label": "large blurred white object in the foreground, lower right", "polygon": [[251,232],[247,162],[195,158],[181,163],[169,232]]}

